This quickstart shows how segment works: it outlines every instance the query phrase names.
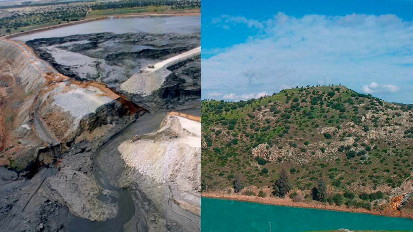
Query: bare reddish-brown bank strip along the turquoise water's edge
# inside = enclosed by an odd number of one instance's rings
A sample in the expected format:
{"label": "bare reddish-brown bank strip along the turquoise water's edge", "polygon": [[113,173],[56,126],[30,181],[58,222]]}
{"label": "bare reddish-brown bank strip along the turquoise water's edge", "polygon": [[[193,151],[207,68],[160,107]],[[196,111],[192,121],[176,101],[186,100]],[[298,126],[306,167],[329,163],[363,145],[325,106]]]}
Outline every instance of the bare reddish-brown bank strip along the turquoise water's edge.
{"label": "bare reddish-brown bank strip along the turquoise water's edge", "polygon": [[331,211],[340,211],[340,212],[351,212],[351,213],[366,213],[371,215],[381,215],[387,217],[395,218],[408,218],[413,219],[412,214],[402,213],[393,209],[388,209],[386,211],[377,211],[375,209],[367,210],[364,208],[348,208],[347,206],[335,206],[329,205],[328,203],[320,203],[317,201],[311,202],[293,202],[292,199],[286,197],[284,199],[275,198],[275,197],[259,197],[259,196],[246,196],[242,194],[226,194],[224,192],[207,192],[202,193],[202,197],[213,198],[213,199],[226,199],[232,201],[246,201],[259,204],[275,205],[275,206],[289,206],[289,207],[298,207],[298,208],[314,208],[314,209],[323,209]]}

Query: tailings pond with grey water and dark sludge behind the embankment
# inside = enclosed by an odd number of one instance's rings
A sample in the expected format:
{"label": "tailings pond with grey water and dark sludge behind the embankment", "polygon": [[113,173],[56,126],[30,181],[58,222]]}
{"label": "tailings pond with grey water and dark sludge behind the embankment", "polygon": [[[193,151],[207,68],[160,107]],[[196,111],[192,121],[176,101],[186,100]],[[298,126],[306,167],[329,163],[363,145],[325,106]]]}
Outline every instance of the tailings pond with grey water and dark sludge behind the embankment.
{"label": "tailings pond with grey water and dark sludge behind the embankment", "polygon": [[[115,18],[12,39],[26,42],[40,58],[66,76],[82,81],[99,81],[109,88],[122,91],[120,85],[149,64],[199,47],[200,17]],[[192,57],[185,63],[188,64],[171,67],[170,71],[179,78],[170,76],[165,83],[168,86],[179,83],[185,89],[183,95],[196,95],[200,85],[193,76],[200,75],[200,56]],[[150,86],[147,88],[149,92],[157,90]],[[144,96],[135,96],[135,92],[123,94],[134,98],[135,102],[154,103],[147,107],[158,107],[159,101],[162,101],[158,96],[150,96],[148,91]],[[168,93],[164,95],[168,96]]]}

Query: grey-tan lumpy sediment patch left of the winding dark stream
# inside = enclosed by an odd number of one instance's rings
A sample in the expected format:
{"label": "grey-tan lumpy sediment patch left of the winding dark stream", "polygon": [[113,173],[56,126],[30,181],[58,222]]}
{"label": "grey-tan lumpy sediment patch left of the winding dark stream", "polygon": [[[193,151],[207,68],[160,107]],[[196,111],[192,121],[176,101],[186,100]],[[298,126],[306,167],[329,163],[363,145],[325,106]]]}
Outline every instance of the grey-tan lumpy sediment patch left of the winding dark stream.
{"label": "grey-tan lumpy sediment patch left of the winding dark stream", "polygon": [[50,199],[61,202],[78,217],[104,221],[114,218],[118,213],[117,204],[97,199],[100,190],[93,177],[69,167],[62,168],[57,175],[48,178],[45,185],[43,191]]}

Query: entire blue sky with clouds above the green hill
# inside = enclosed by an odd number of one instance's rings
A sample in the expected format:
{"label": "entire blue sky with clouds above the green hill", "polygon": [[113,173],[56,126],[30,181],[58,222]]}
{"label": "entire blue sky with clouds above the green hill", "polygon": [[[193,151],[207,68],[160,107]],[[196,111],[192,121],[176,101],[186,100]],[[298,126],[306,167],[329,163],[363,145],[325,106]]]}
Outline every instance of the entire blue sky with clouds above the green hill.
{"label": "entire blue sky with clouds above the green hill", "polygon": [[202,98],[338,84],[413,103],[413,0],[202,2]]}

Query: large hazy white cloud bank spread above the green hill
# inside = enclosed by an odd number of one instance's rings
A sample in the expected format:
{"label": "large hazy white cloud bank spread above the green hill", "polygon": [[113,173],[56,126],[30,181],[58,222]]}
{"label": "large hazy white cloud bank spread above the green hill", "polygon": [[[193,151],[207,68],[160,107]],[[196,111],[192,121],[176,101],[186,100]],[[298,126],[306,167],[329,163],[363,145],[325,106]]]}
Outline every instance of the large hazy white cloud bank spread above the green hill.
{"label": "large hazy white cloud bank spread above the green hill", "polygon": [[242,96],[341,83],[385,100],[413,99],[400,93],[412,83],[413,66],[403,65],[413,64],[411,21],[392,14],[296,18],[278,13],[265,21],[223,16],[214,23],[259,30],[245,43],[202,58],[202,90]]}

